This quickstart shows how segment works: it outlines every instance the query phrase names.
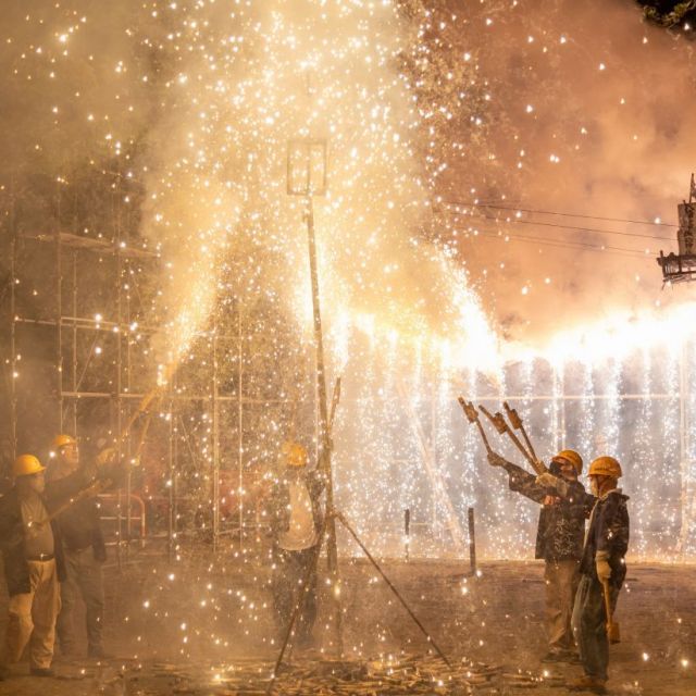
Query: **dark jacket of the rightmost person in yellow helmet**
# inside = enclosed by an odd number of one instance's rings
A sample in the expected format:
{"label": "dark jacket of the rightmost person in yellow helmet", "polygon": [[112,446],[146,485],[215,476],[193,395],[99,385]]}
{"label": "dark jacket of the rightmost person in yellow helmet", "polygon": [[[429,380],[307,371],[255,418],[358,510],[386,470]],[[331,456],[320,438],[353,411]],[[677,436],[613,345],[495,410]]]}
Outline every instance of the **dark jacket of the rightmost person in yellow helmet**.
{"label": "dark jacket of the rightmost person in yellow helmet", "polygon": [[621,588],[626,576],[625,555],[629,549],[630,521],[626,500],[621,490],[610,490],[604,498],[594,498],[580,572],[597,579],[598,551],[607,554],[611,567],[610,584]]}

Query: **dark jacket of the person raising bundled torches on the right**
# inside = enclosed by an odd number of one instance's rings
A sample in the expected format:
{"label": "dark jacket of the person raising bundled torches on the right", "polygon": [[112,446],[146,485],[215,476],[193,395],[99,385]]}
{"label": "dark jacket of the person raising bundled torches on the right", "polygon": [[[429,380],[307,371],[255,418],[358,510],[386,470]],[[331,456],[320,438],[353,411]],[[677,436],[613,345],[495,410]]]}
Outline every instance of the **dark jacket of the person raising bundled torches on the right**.
{"label": "dark jacket of the person raising bundled torches on the right", "polygon": [[580,560],[583,555],[585,519],[588,513],[587,494],[583,484],[577,481],[569,482],[567,498],[555,496],[555,505],[544,505],[548,493],[536,483],[536,476],[510,462],[507,462],[505,468],[510,476],[510,489],[543,506],[536,531],[534,558],[543,558],[546,561]]}

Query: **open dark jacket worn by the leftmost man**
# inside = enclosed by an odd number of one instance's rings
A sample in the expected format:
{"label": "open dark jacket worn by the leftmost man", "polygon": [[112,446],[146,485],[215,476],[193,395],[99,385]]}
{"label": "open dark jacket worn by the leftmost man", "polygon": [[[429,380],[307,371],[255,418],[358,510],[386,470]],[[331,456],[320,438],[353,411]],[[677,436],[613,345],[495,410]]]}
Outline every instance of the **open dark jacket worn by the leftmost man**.
{"label": "open dark jacket worn by the leftmost man", "polygon": [[[41,496],[49,514],[71,496],[83,490],[92,481],[94,470],[79,469],[70,476],[60,481],[46,483],[46,489]],[[63,545],[61,530],[55,520],[51,521],[53,530],[53,544],[55,566],[59,581],[65,577],[65,564],[63,558]],[[30,592],[29,567],[26,561],[24,544],[24,521],[22,506],[16,488],[12,488],[0,498],[0,547],[4,561],[4,577],[10,596]]]}

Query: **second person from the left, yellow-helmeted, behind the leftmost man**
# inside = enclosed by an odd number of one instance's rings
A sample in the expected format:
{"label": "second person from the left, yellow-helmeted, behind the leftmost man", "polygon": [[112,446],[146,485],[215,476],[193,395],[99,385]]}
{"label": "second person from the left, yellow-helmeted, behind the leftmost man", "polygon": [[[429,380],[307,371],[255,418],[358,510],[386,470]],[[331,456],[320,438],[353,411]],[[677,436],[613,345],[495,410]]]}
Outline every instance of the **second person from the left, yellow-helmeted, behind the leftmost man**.
{"label": "second person from the left, yellow-helmeted, behind the leftmost man", "polygon": [[[55,458],[49,468],[49,480],[61,481],[79,469],[79,448],[74,437],[58,435],[52,443]],[[65,580],[61,583],[62,608],[57,632],[61,654],[77,652],[75,607],[85,602],[87,654],[105,657],[102,644],[104,591],[101,567],[107,560],[97,495],[82,498],[55,519],[61,531],[65,556]]]}

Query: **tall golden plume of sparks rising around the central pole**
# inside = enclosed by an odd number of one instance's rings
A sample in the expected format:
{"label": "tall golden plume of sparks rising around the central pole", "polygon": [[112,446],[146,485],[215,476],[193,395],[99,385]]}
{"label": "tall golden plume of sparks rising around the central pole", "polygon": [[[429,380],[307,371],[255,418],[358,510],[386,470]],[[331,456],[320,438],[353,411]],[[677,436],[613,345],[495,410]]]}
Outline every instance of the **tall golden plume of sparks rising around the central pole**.
{"label": "tall golden plume of sparks rising around the central pole", "polygon": [[309,327],[303,202],[286,195],[286,153],[290,139],[314,138],[328,147],[328,190],[315,204],[328,326],[345,331],[349,316],[383,338],[490,362],[493,332],[464,273],[423,241],[420,116],[397,70],[418,23],[389,2],[161,13],[167,28],[150,41],[171,75],[149,136],[145,229],[170,270],[167,350],[185,352],[228,293],[279,297]]}

